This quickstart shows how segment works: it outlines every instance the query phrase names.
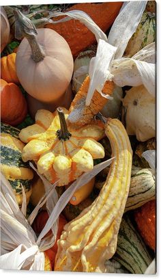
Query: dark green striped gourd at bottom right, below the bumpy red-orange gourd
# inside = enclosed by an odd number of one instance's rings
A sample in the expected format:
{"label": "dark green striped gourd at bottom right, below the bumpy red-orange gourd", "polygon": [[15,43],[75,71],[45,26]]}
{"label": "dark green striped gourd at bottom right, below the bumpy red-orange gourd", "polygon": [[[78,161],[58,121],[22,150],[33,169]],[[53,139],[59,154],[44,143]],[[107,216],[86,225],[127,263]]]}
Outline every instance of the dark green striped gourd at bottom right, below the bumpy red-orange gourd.
{"label": "dark green striped gourd at bottom right, below the bumpy red-orange gourd", "polygon": [[113,258],[132,274],[144,274],[152,261],[141,236],[132,225],[127,213],[123,215]]}

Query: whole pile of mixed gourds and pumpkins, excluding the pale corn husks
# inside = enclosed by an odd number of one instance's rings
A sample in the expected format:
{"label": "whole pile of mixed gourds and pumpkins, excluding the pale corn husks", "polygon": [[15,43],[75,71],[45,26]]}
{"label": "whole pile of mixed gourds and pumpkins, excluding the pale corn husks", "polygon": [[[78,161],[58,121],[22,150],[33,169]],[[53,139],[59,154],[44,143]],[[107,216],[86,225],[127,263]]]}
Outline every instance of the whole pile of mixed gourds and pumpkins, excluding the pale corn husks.
{"label": "whole pile of mixed gourds and pumpkins, excluding the pale corn husks", "polygon": [[[121,5],[80,3],[68,11],[86,12],[108,34]],[[143,85],[120,88],[107,81],[103,92],[113,100],[96,90],[91,105],[83,107],[90,79],[74,73],[89,68],[96,55],[91,31],[75,20],[37,29],[37,19],[33,24],[29,15],[10,9],[13,39],[5,10],[1,7],[1,172],[18,206],[24,189],[29,211],[45,194],[29,162],[50,183],[57,182],[61,196],[94,165],[114,157],[110,168],[76,190],[63,209],[44,269],[143,274],[156,252],[155,175],[142,157],[156,149],[155,98]],[[155,28],[155,1],[148,1],[124,56],[155,42]],[[44,204],[32,225],[37,235],[47,220]]]}

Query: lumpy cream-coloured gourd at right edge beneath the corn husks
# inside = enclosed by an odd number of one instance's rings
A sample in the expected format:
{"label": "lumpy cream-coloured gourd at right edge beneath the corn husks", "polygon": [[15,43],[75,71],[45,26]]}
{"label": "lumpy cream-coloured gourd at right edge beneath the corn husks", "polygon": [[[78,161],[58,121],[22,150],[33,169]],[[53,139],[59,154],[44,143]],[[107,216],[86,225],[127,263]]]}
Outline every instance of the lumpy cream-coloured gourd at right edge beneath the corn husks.
{"label": "lumpy cream-coloured gourd at right edge beneath the corn husks", "polygon": [[156,137],[156,100],[143,85],[126,91],[123,107],[128,135],[136,135],[139,142]]}

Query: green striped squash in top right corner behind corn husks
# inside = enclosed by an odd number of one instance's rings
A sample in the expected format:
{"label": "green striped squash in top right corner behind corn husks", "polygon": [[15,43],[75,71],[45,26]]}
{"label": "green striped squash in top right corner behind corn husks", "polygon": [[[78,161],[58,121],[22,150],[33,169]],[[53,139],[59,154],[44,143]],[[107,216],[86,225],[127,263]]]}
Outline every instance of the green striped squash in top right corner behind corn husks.
{"label": "green striped squash in top right corner behind corn husks", "polygon": [[135,53],[156,41],[156,14],[143,12],[141,22],[130,38],[123,56],[132,57]]}

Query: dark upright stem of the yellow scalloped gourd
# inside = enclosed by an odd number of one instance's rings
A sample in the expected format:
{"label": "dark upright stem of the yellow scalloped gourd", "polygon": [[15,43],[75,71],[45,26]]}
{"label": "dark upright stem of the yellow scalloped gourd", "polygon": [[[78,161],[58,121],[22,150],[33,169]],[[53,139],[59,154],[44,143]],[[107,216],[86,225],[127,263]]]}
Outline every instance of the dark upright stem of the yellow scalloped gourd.
{"label": "dark upright stem of the yellow scalloped gourd", "polygon": [[60,140],[65,141],[67,139],[70,139],[71,133],[68,131],[68,128],[67,128],[63,109],[61,109],[61,107],[58,107],[57,112],[59,115],[59,120],[60,120],[60,125],[61,125],[61,129],[57,131],[57,136]]}

